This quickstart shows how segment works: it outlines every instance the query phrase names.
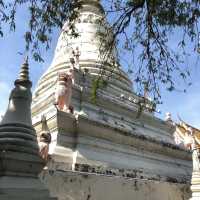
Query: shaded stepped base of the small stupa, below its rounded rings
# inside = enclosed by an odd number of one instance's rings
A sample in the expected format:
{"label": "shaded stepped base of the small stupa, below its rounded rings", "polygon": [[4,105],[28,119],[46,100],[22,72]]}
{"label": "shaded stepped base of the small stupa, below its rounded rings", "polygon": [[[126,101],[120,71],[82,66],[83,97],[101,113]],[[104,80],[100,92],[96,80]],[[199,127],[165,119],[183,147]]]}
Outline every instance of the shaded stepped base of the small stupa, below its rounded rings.
{"label": "shaded stepped base of the small stupa, below its rounded rings", "polygon": [[55,200],[37,177],[43,165],[38,156],[6,151],[1,152],[0,160],[1,200]]}

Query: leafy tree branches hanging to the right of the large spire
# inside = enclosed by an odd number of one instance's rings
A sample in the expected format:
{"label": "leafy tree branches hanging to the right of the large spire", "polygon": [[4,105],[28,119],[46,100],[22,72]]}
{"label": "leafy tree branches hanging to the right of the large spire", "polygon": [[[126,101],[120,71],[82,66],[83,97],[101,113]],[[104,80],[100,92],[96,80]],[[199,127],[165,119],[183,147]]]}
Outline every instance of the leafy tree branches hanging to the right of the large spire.
{"label": "leafy tree branches hanging to the right of the large spire", "polygon": [[[195,51],[198,46],[198,0],[112,0],[107,14],[108,18],[115,19],[111,21],[114,40],[123,52],[118,55],[132,58],[125,64],[133,74],[139,93],[144,91],[144,83],[147,83],[149,95],[159,103],[161,85],[174,91],[177,78],[186,83],[190,76],[189,67],[183,63],[188,55],[186,41],[194,45]],[[178,30],[182,36],[177,41],[177,48],[171,49],[169,38]],[[123,60],[123,56],[119,60]]]}

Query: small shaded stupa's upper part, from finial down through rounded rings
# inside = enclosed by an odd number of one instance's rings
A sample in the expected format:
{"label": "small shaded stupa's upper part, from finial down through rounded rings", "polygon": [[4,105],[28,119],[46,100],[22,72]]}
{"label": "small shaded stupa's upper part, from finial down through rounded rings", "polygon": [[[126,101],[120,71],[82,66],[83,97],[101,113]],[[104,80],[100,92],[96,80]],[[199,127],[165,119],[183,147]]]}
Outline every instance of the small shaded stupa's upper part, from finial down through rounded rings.
{"label": "small shaded stupa's upper part, from finial down through rounded rings", "polygon": [[[19,78],[15,81],[15,87],[9,97],[7,111],[0,123],[0,143],[2,145],[0,146],[5,148],[4,150],[16,150],[16,152],[23,147],[24,152],[38,155],[36,133],[31,120],[32,94],[28,74],[28,60],[26,59],[21,66]],[[26,133],[21,132],[24,128]],[[18,145],[20,148],[17,147]]]}

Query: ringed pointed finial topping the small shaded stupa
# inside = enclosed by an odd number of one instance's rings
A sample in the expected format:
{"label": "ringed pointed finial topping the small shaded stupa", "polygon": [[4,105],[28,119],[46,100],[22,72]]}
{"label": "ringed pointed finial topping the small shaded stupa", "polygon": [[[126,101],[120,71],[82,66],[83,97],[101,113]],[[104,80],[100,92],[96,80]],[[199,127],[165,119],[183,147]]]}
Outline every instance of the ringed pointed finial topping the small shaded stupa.
{"label": "ringed pointed finial topping the small shaded stupa", "polygon": [[24,85],[30,86],[32,85],[29,80],[29,64],[28,64],[28,56],[24,59],[24,63],[21,66],[21,70],[19,72],[19,78],[15,81],[15,85]]}

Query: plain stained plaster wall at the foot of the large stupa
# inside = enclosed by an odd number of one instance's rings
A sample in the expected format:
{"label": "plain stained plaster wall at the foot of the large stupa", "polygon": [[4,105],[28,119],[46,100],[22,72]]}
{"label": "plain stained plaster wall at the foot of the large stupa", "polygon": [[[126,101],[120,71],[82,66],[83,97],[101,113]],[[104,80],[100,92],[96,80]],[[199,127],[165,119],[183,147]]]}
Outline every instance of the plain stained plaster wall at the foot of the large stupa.
{"label": "plain stained plaster wall at the foot of the large stupa", "polygon": [[44,171],[41,180],[58,200],[188,200],[189,185],[72,171]]}

